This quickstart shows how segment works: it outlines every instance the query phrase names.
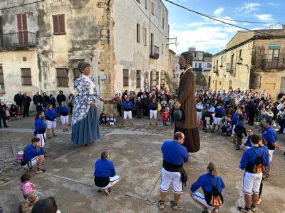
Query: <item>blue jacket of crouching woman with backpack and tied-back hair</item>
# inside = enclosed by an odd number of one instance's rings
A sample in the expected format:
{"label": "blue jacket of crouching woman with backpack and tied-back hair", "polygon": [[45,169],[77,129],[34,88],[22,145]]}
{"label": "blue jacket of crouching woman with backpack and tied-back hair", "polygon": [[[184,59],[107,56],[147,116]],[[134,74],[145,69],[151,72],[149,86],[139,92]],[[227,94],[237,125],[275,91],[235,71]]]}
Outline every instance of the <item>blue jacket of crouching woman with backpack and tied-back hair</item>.
{"label": "blue jacket of crouching woman with backpack and tied-back hair", "polygon": [[211,192],[212,187],[215,187],[216,185],[219,192],[222,192],[224,189],[224,182],[222,178],[220,176],[214,177],[211,173],[206,173],[204,175],[201,175],[198,180],[192,184],[190,190],[191,192],[195,192],[199,189],[199,187],[202,187],[202,190],[204,192]]}

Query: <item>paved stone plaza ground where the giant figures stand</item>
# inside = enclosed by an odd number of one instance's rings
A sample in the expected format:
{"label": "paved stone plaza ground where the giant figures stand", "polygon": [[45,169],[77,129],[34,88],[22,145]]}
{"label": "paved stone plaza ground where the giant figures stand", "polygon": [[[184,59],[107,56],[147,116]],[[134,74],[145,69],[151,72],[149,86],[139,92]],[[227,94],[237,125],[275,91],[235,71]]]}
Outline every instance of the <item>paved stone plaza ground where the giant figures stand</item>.
{"label": "paved stone plaza ground where the giant figures stand", "polygon": [[[19,118],[9,123],[9,129],[0,131],[0,206],[4,213],[17,212],[23,201],[19,184],[24,170],[14,164],[14,155],[30,143],[33,121],[34,117]],[[43,192],[43,197],[56,197],[61,212],[160,212],[157,209],[162,166],[160,148],[163,141],[172,138],[174,126],[149,126],[147,119],[134,123],[124,126],[119,119],[116,126],[103,126],[100,140],[83,147],[71,142],[71,131],[63,133],[58,128],[58,137],[46,143],[48,156],[43,165],[46,173],[31,173],[31,181]],[[201,131],[200,137],[201,150],[191,154],[185,164],[188,182],[177,212],[202,212],[190,199],[190,185],[205,173],[210,160],[216,163],[226,185],[225,203],[220,212],[237,212],[237,206],[244,205],[242,170],[239,169],[242,151],[234,151],[232,138],[217,132]],[[282,147],[284,149],[283,143]],[[122,177],[110,196],[97,192],[93,183],[94,162],[106,150],[110,151],[110,158]],[[283,151],[276,151],[273,161],[272,177],[264,182],[259,212],[285,212]],[[172,192],[167,196],[164,212],[174,212],[170,200]]]}

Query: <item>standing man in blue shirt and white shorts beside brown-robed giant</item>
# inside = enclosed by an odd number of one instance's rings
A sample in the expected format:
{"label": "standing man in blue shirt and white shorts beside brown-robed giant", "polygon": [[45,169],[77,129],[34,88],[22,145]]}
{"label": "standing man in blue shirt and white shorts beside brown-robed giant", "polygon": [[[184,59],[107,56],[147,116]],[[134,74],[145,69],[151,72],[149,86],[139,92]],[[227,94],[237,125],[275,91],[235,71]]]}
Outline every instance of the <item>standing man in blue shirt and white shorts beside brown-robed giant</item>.
{"label": "standing man in blue shirt and white shorts beside brown-robed giant", "polygon": [[[175,133],[173,141],[165,141],[161,151],[163,155],[163,165],[161,170],[160,201],[158,207],[164,209],[165,197],[170,185],[173,185],[174,200],[171,201],[172,209],[178,209],[178,201],[183,193],[182,174],[185,173],[183,163],[188,161],[189,154],[184,143],[185,136],[182,132]],[[184,175],[183,175],[184,176]]]}

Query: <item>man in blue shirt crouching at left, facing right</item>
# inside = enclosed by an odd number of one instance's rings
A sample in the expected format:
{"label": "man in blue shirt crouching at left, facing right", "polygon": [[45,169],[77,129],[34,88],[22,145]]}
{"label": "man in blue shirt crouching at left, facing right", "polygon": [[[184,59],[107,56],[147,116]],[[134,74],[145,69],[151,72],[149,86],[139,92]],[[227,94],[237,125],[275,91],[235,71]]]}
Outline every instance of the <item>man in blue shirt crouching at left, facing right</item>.
{"label": "man in blue shirt crouching at left, facing right", "polygon": [[24,148],[24,156],[21,165],[25,170],[29,170],[33,165],[36,165],[36,173],[43,173],[45,170],[41,169],[44,162],[45,151],[41,148],[39,138],[31,139],[31,144]]}

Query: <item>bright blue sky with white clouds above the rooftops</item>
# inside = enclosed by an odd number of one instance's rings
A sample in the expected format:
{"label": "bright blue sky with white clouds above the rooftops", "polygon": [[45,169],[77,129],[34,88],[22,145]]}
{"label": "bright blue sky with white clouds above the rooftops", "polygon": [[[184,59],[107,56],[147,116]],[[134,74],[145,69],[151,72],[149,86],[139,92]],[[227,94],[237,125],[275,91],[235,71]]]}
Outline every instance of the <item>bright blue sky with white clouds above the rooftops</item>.
{"label": "bright blue sky with white clouds above the rooftops", "polygon": [[[170,45],[176,53],[190,47],[209,53],[224,50],[229,40],[242,29],[191,13],[162,0],[169,12],[170,38],[177,37],[177,46]],[[242,21],[285,22],[285,0],[171,0],[189,9],[221,18]],[[281,28],[280,24],[237,23],[244,28],[259,30]],[[170,42],[171,43],[171,42]]]}

